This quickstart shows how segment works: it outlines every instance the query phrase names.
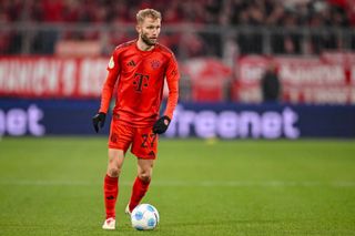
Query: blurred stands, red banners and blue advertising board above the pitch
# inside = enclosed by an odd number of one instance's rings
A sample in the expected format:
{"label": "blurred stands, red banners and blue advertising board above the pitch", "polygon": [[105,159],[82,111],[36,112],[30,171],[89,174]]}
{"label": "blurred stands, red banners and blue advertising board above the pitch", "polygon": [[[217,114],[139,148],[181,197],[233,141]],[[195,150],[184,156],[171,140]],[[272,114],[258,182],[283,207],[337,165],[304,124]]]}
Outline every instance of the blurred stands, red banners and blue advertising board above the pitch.
{"label": "blurred stands, red banners and blue advertising board above the pitch", "polygon": [[[354,137],[352,3],[1,1],[0,134],[92,134],[82,121],[99,104],[108,59],[135,38],[134,12],[152,7],[182,74],[183,112],[170,136]],[[281,94],[266,105],[261,79],[271,66]],[[69,119],[73,125],[61,125]]]}

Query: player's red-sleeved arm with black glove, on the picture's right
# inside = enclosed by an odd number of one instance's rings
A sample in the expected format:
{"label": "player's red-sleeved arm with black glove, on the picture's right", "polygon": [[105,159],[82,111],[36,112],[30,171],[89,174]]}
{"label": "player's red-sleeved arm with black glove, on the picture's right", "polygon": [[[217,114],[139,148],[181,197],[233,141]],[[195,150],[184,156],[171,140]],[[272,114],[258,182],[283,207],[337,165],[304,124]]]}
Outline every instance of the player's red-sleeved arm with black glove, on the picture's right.
{"label": "player's red-sleeved arm with black glove, on the picture's right", "polygon": [[156,134],[165,133],[171,120],[173,119],[173,112],[178,104],[180,74],[178,69],[178,62],[173,54],[168,64],[168,70],[165,75],[166,75],[166,83],[169,89],[168,103],[166,103],[164,115],[160,117],[153,126],[153,132]]}

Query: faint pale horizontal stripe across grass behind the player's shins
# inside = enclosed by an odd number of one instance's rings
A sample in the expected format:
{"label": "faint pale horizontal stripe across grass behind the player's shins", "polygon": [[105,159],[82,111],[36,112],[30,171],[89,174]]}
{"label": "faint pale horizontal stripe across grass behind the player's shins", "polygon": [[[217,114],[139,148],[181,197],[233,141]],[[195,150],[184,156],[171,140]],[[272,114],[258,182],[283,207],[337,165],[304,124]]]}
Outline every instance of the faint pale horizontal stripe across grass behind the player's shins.
{"label": "faint pale horizontal stripe across grass behind the player's shins", "polygon": [[[28,186],[93,186],[102,185],[99,182],[78,182],[78,181],[3,181],[0,185],[28,185]],[[131,182],[120,182],[122,186],[131,186]],[[152,183],[156,187],[355,187],[355,182],[176,182],[176,181],[156,181]]]}

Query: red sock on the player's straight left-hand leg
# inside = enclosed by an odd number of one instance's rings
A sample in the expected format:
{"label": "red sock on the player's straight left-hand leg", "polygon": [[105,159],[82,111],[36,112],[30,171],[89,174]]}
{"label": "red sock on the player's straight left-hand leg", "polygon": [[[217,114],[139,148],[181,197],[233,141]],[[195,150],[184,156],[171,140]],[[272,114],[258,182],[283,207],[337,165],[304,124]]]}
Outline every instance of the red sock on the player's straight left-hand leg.
{"label": "red sock on the player's straight left-hand leg", "polygon": [[110,177],[106,175],[103,182],[103,193],[104,193],[104,207],[106,211],[106,218],[115,217],[115,201],[119,194],[119,178]]}

